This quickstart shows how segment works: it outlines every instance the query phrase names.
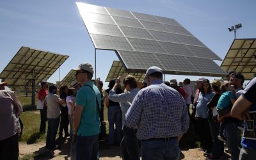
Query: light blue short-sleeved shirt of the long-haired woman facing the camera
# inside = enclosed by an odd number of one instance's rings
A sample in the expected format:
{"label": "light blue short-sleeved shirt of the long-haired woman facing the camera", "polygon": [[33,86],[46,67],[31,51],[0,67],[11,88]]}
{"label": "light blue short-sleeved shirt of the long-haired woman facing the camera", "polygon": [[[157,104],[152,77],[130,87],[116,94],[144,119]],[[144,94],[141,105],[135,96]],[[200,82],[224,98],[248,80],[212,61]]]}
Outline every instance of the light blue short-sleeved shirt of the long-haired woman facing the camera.
{"label": "light blue short-sleeved shirt of the long-haired woman facing the camera", "polygon": [[214,93],[206,93],[205,95],[202,92],[199,93],[198,96],[198,104],[196,106],[196,117],[200,118],[208,118],[208,108],[207,103],[210,102]]}

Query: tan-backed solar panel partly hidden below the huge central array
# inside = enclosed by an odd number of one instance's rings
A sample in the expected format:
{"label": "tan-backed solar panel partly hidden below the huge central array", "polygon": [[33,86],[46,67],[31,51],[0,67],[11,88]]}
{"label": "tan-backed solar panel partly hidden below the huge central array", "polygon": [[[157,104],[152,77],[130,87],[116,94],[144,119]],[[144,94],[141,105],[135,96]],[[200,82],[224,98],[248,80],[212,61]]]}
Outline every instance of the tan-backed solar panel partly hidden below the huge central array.
{"label": "tan-backed solar panel partly hidden below the huge central array", "polygon": [[126,72],[125,68],[123,67],[120,61],[113,61],[113,64],[108,73],[108,77],[106,78],[106,82],[109,82],[112,79],[116,79],[116,77],[123,76],[124,74],[130,74],[134,76],[138,82],[142,82],[145,77],[145,74],[142,73]]}

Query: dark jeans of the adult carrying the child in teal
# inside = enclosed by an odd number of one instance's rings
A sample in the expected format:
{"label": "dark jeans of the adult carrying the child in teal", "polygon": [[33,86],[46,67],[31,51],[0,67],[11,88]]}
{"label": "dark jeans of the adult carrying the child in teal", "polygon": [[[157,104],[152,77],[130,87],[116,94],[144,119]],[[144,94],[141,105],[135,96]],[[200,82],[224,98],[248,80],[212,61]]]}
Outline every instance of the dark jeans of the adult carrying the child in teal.
{"label": "dark jeans of the adult carrying the child in teal", "polygon": [[231,159],[238,160],[241,136],[239,130],[237,129],[237,123],[226,123],[224,132],[224,136],[227,140],[226,145],[228,147],[228,152],[231,154]]}

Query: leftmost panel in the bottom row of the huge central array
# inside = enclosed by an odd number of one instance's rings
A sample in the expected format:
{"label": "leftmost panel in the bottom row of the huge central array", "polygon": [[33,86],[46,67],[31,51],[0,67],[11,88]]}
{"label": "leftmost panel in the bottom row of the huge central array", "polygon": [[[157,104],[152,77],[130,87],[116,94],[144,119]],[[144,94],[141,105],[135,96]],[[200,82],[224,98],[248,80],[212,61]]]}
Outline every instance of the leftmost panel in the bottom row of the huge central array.
{"label": "leftmost panel in the bottom row of the huge central array", "polygon": [[156,56],[148,52],[117,51],[127,68],[145,69],[152,66],[163,68]]}

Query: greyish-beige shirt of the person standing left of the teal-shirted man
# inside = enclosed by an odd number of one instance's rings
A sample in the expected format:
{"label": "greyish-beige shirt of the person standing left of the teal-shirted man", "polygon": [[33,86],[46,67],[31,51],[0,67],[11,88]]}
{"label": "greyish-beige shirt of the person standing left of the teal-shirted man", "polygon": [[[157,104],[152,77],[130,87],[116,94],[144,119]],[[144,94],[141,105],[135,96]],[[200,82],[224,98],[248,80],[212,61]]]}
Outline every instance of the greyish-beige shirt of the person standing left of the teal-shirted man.
{"label": "greyish-beige shirt of the person standing left of the teal-shirted man", "polygon": [[47,118],[58,118],[60,116],[60,97],[56,94],[49,93],[45,100],[47,102]]}

